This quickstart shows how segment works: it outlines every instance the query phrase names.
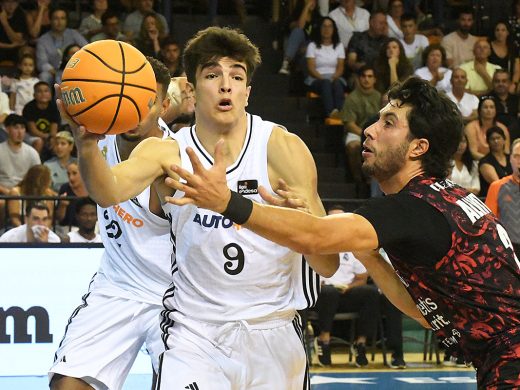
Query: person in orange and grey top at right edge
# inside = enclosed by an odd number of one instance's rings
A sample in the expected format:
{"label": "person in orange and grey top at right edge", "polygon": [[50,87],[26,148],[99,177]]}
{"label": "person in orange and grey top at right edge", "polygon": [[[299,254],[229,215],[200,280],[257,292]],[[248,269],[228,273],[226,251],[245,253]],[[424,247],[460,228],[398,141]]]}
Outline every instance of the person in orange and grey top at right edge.
{"label": "person in orange and grey top at right edge", "polygon": [[494,181],[489,186],[486,205],[500,219],[509,234],[517,257],[520,255],[520,139],[511,145],[512,174]]}

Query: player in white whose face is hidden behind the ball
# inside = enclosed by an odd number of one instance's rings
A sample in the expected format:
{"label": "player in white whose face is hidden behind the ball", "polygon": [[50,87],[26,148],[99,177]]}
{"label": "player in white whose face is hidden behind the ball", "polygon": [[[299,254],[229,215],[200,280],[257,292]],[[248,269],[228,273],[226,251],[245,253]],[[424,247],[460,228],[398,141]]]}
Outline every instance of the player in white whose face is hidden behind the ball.
{"label": "player in white whose face is hidden behind the ball", "polygon": [[[99,150],[110,166],[125,161],[143,139],[170,134],[158,125],[168,108],[168,69],[148,58],[157,79],[157,98],[135,130],[109,135]],[[164,350],[162,296],[171,282],[169,222],[157,195],[144,188],[111,207],[98,207],[105,251],[83,303],[73,312],[49,371],[51,389],[121,389],[144,345],[155,371]]]}

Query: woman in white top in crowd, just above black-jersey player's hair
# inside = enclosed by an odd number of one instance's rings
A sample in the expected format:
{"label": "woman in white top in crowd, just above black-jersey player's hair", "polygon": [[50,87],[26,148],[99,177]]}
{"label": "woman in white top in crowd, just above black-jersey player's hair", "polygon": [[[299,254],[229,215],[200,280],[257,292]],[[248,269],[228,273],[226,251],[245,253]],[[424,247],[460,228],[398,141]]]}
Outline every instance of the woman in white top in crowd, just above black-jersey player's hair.
{"label": "woman in white top in crowd, just above black-jersey player's hair", "polygon": [[429,81],[438,91],[451,92],[451,69],[446,67],[446,51],[441,45],[433,44],[424,49],[423,64],[415,75]]}

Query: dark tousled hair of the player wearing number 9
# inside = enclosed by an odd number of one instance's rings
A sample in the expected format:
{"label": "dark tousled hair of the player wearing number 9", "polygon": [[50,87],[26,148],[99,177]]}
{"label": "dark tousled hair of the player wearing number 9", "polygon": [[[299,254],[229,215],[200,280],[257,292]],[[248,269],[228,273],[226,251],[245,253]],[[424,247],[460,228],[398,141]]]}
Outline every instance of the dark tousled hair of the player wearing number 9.
{"label": "dark tousled hair of the player wearing number 9", "polygon": [[239,30],[208,27],[195,34],[184,49],[183,62],[188,81],[195,85],[197,69],[222,57],[245,62],[248,85],[262,62],[258,48]]}

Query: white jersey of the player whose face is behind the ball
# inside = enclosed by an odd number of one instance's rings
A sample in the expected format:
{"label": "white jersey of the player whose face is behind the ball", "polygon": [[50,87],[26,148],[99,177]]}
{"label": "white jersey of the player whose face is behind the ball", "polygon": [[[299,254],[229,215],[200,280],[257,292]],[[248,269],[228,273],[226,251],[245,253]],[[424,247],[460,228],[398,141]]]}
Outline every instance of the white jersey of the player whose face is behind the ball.
{"label": "white jersey of the player whose face is behind the ball", "polygon": [[[167,128],[163,130],[172,137]],[[98,146],[110,166],[121,162],[115,135],[106,136]],[[150,212],[149,200],[150,187],[118,205],[98,206],[105,246],[98,275],[110,282],[101,290],[109,289],[111,295],[161,305],[171,282],[170,226]]]}

